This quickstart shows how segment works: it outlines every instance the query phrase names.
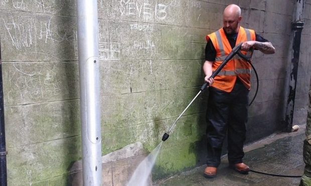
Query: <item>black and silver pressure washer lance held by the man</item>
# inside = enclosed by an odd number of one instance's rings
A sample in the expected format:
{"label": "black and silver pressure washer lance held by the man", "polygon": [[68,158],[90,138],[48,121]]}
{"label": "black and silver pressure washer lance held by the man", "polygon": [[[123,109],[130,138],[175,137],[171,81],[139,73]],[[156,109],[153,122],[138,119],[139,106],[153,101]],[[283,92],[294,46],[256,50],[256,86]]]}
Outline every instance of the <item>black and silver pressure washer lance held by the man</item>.
{"label": "black and silver pressure washer lance held by the man", "polygon": [[[254,48],[251,48],[246,55],[244,55],[241,52],[241,46],[242,46],[242,42],[239,43],[238,45],[236,45],[232,51],[227,55],[227,57],[224,59],[224,61],[218,66],[218,68],[213,72],[213,74],[209,77],[209,78],[214,78],[219,72],[220,70],[227,64],[227,62],[235,55],[238,54],[241,58],[247,60],[248,62],[250,62],[252,55],[253,55],[253,50]],[[193,103],[193,101],[200,95],[200,93],[202,91],[204,91],[207,87],[209,86],[208,82],[205,82],[201,88],[199,93],[192,99],[192,101],[188,104],[188,106],[184,109],[184,111],[178,116],[178,118],[175,120],[175,122],[173,123],[173,125],[171,126],[170,130],[168,132],[165,132],[162,136],[162,140],[165,141],[169,138],[170,136],[170,132],[172,130],[172,128],[175,126],[176,122],[178,121],[178,119],[185,113],[185,111],[188,109],[188,107]]]}

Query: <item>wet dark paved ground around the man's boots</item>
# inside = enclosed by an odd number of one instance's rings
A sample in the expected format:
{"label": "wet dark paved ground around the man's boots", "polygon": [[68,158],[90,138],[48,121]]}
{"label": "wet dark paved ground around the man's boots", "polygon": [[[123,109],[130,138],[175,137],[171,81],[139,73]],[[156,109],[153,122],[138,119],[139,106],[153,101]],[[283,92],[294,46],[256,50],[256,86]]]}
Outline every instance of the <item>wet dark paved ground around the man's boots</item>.
{"label": "wet dark paved ground around the man's boots", "polygon": [[[263,140],[244,147],[244,162],[251,169],[273,174],[302,175],[304,162],[302,146],[305,139],[305,125],[291,133],[273,134]],[[228,167],[227,156],[222,157],[217,177],[207,179],[203,176],[206,165],[183,172],[163,180],[153,182],[162,185],[299,185],[300,177],[279,177],[249,172],[244,175]]]}

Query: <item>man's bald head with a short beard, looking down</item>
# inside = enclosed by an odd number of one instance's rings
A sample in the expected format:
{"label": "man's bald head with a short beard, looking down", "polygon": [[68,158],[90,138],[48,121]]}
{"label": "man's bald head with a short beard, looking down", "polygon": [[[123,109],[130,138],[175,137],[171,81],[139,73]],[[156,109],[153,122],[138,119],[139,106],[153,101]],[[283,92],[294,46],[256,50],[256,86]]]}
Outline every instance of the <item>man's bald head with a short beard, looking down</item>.
{"label": "man's bald head with a short beard, looking down", "polygon": [[238,32],[241,20],[241,8],[238,5],[230,4],[225,8],[223,21],[224,29],[227,33],[231,34]]}

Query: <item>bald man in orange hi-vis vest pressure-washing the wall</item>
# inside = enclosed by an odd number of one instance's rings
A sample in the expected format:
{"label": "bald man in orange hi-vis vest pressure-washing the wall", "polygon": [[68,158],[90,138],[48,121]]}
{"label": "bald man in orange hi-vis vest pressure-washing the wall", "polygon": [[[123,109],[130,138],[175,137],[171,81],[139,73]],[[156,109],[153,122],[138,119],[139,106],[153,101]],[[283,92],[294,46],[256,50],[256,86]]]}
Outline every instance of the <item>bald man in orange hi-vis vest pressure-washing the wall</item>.
{"label": "bald man in orange hi-vis vest pressure-washing the wall", "polygon": [[240,26],[241,19],[240,7],[230,4],[223,13],[223,28],[206,36],[206,61],[203,70],[206,75],[205,81],[210,85],[210,94],[206,114],[208,144],[204,175],[208,178],[216,176],[226,135],[230,167],[244,174],[249,171],[242,158],[251,66],[236,55],[214,79],[209,77],[238,43],[242,42],[241,49],[244,51],[254,47],[265,54],[275,52],[275,48],[268,40],[256,34],[254,30]]}

